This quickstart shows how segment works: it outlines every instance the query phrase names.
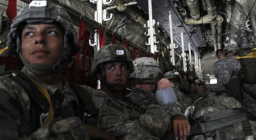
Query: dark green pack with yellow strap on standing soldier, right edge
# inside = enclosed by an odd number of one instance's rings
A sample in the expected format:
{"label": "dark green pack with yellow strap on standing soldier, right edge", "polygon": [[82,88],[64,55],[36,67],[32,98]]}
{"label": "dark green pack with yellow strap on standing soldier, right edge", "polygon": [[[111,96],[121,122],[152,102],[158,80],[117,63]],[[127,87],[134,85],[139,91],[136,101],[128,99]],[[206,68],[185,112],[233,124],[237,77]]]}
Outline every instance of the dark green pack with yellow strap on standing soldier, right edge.
{"label": "dark green pack with yellow strap on standing soldier, right edge", "polygon": [[246,48],[239,50],[240,59],[243,72],[243,82],[248,84],[256,83],[256,49]]}

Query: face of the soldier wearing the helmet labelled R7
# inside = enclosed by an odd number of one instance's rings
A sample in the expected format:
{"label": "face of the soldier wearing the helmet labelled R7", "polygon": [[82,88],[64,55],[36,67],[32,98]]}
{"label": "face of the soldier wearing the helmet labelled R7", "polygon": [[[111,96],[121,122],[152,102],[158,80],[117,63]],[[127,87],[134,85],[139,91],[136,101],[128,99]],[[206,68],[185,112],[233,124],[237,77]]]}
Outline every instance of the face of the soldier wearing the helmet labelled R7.
{"label": "face of the soldier wearing the helmet labelled R7", "polygon": [[125,85],[127,80],[127,66],[125,62],[110,62],[104,66],[108,84]]}

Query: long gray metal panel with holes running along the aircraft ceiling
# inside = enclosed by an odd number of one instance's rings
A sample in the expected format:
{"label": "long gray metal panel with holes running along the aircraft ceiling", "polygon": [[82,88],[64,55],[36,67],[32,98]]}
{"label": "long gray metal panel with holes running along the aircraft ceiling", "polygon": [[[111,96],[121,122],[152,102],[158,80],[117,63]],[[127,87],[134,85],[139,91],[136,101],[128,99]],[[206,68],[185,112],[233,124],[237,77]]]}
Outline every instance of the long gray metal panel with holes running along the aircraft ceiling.
{"label": "long gray metal panel with holes running along the aircraft ceiling", "polygon": [[[137,3],[148,12],[148,0],[136,0]],[[191,50],[197,50],[197,47],[205,47],[206,44],[203,39],[201,28],[199,25],[186,25],[182,21],[182,18],[170,0],[152,0],[153,18],[159,22],[160,26],[170,37],[169,28],[169,10],[172,14],[172,28],[173,28],[173,40],[181,46],[181,28],[184,36],[185,51],[188,51],[188,40],[190,39]],[[192,34],[191,34],[192,33]],[[198,51],[197,51],[198,52]],[[200,55],[198,53],[198,55]],[[199,56],[200,57],[200,56]]]}

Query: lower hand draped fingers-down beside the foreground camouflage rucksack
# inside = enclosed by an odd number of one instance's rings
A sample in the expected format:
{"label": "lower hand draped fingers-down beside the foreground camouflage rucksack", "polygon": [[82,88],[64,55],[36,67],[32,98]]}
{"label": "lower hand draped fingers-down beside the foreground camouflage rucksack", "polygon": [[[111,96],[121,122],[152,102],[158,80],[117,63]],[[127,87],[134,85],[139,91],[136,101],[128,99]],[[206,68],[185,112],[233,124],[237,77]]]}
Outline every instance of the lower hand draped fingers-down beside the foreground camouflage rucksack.
{"label": "lower hand draped fingers-down beside the foreground camouflage rucksack", "polygon": [[[188,134],[190,133],[190,124],[188,120],[181,115],[174,116],[168,131],[173,130],[173,134],[176,140],[186,140]],[[178,135],[179,133],[179,135]]]}

